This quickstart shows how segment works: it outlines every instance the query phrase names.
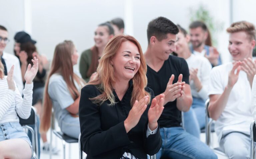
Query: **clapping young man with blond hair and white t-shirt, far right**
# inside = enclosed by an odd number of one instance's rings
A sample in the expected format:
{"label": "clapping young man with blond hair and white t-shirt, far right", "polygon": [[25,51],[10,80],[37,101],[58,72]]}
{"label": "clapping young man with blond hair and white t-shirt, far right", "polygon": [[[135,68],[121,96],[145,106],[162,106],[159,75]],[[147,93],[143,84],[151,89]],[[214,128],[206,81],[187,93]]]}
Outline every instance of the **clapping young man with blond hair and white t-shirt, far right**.
{"label": "clapping young man with blond hair and white t-shirt, far right", "polygon": [[255,27],[245,21],[228,29],[228,50],[233,62],[214,67],[209,84],[209,115],[216,120],[220,147],[229,158],[249,158],[251,87],[256,73],[252,60]]}

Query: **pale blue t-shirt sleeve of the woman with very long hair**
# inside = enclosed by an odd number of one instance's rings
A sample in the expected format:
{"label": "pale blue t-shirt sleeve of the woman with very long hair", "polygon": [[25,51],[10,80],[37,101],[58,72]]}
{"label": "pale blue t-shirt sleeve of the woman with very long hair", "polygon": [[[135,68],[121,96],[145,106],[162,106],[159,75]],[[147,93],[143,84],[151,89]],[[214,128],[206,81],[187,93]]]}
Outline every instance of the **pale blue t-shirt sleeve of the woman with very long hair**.
{"label": "pale blue t-shirt sleeve of the woman with very long hair", "polygon": [[52,100],[57,101],[62,109],[67,108],[74,103],[67,84],[63,80],[53,81],[49,84],[48,93]]}

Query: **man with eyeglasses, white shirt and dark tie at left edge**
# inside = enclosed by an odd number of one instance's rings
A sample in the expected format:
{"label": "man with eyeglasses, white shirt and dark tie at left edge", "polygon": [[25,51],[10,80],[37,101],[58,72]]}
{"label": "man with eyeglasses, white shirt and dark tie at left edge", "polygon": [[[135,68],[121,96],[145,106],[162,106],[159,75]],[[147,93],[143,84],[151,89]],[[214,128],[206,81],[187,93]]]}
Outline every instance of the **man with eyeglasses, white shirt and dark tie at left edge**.
{"label": "man with eyeglasses, white shirt and dark tie at left edge", "polygon": [[0,57],[4,65],[4,74],[7,75],[12,65],[14,65],[13,80],[16,82],[19,92],[22,95],[23,82],[19,59],[14,55],[4,52],[6,44],[9,41],[7,29],[0,25]]}

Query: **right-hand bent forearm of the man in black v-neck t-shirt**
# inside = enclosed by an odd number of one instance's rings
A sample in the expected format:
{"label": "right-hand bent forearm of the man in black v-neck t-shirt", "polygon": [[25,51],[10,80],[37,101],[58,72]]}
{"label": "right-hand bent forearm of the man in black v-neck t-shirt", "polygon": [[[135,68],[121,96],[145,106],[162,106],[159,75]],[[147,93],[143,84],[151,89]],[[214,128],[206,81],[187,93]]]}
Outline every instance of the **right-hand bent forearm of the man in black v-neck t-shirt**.
{"label": "right-hand bent forearm of the man in black v-neck t-shirt", "polygon": [[183,98],[177,98],[177,108],[180,110],[180,111],[188,111],[191,104],[192,104],[192,95],[191,94],[187,94],[185,95],[184,94],[184,97]]}

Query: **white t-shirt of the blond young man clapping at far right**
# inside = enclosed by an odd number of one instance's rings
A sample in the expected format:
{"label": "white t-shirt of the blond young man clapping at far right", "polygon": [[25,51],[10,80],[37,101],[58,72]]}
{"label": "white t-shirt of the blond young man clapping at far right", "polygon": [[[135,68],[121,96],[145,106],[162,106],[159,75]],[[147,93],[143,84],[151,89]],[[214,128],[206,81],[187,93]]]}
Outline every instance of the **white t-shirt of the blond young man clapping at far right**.
{"label": "white t-shirt of the blond young man clapping at far right", "polygon": [[[228,75],[233,64],[216,66],[210,74],[209,95],[222,94],[228,84]],[[228,97],[227,105],[215,123],[215,131],[220,141],[223,131],[238,131],[250,135],[253,121],[251,105],[251,86],[244,71],[240,71],[238,80]]]}

